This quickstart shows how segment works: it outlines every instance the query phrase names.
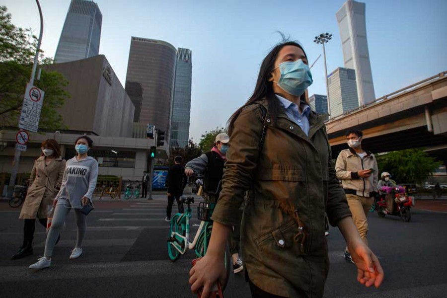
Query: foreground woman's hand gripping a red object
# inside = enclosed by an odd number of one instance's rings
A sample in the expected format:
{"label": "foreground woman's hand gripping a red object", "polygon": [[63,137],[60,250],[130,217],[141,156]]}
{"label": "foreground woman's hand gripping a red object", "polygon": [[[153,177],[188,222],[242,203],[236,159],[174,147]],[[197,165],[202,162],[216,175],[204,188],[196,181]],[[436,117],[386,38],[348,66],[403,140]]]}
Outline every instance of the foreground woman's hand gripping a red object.
{"label": "foreground woman's hand gripping a red object", "polygon": [[203,287],[201,298],[208,298],[213,286],[219,280],[225,284],[226,270],[224,255],[213,255],[210,251],[189,271],[191,291],[197,293]]}

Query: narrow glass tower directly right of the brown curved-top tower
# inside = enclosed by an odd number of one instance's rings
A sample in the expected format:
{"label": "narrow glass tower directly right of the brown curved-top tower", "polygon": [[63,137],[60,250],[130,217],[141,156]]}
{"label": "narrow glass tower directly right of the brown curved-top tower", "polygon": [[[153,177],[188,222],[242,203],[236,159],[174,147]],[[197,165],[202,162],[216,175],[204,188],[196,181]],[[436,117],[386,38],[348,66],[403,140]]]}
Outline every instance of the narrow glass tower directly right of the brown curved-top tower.
{"label": "narrow glass tower directly right of the brown curved-top tower", "polygon": [[191,75],[191,50],[178,48],[175,64],[170,147],[184,148],[188,145],[191,114]]}

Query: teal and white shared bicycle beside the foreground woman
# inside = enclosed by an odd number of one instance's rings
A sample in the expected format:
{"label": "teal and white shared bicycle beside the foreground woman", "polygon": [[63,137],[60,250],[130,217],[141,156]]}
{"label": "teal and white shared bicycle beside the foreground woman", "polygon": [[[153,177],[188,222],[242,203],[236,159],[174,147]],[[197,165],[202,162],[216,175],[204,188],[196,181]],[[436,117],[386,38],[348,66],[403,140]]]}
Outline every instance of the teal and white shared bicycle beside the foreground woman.
{"label": "teal and white shared bicycle beside the foreground woman", "polygon": [[[175,262],[181,254],[184,254],[188,249],[194,249],[197,258],[205,256],[208,244],[210,243],[211,230],[213,229],[213,221],[211,215],[213,214],[216,203],[201,202],[197,207],[197,218],[201,221],[199,229],[194,236],[194,240],[190,242],[190,220],[192,209],[191,203],[194,203],[194,197],[181,198],[180,202],[186,203],[187,208],[185,213],[177,213],[171,218],[169,227],[169,237],[167,239],[167,249],[169,259]],[[224,265],[226,269],[226,282],[228,282],[231,255],[228,247],[224,253]],[[224,289],[226,286],[222,285]]]}

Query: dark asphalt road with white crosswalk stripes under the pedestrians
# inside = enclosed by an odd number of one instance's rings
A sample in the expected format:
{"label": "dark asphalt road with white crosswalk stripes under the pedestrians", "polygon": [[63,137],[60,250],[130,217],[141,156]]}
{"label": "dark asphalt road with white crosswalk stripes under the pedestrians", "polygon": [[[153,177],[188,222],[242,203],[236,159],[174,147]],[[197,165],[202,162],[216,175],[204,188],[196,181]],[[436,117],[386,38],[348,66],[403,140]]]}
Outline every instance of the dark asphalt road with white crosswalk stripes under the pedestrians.
{"label": "dark asphalt road with white crosswalk stripes under the pedestrians", "polygon": [[[96,202],[95,207],[87,219],[82,256],[69,260],[76,237],[71,213],[52,267],[32,272],[28,266],[43,254],[45,229],[36,224],[34,256],[10,260],[21,244],[23,222],[19,210],[0,201],[0,297],[195,297],[188,284],[194,254],[187,252],[175,263],[167,257],[163,196]],[[192,224],[197,225],[195,209]],[[356,281],[354,265],[343,259],[343,238],[331,228],[325,297],[447,297],[447,213],[412,209],[410,223],[370,215],[370,246],[385,270],[382,287],[367,289]],[[250,297],[242,274],[231,275],[225,297]]]}

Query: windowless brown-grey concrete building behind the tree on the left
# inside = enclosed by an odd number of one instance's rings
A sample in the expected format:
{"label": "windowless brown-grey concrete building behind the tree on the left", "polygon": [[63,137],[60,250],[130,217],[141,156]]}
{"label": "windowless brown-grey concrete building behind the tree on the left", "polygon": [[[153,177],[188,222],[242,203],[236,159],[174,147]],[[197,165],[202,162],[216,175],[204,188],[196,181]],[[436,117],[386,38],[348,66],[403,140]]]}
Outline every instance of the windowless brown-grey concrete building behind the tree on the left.
{"label": "windowless brown-grey concrete building behind the tree on the left", "polygon": [[135,107],[104,55],[45,66],[69,81],[71,98],[59,110],[72,132],[132,137]]}

